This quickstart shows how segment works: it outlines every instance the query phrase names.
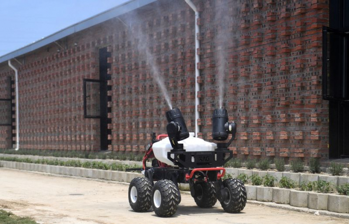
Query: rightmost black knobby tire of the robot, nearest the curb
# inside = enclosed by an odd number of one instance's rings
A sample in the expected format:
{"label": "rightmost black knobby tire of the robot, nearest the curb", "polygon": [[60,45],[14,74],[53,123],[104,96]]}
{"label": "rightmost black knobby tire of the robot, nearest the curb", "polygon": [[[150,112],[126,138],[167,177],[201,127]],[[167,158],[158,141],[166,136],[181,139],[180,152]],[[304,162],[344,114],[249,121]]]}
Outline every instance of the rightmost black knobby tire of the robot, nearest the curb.
{"label": "rightmost black knobby tire of the robot, nearest the curb", "polygon": [[226,205],[221,202],[224,211],[228,213],[238,213],[246,206],[247,193],[245,185],[239,179],[229,178],[223,181],[223,186],[227,187],[230,192],[230,201]]}

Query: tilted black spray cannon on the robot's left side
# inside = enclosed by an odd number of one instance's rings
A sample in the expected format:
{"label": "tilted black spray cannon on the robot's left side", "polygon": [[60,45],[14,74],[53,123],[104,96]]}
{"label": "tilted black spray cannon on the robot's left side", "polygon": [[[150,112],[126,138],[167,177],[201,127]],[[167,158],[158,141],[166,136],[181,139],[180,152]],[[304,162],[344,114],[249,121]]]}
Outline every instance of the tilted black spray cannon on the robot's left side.
{"label": "tilted black spray cannon on the robot's left side", "polygon": [[174,108],[166,112],[166,118],[168,121],[166,131],[173,150],[184,150],[183,144],[179,144],[178,141],[189,137],[189,132],[187,126],[185,125],[182,112],[178,108]]}

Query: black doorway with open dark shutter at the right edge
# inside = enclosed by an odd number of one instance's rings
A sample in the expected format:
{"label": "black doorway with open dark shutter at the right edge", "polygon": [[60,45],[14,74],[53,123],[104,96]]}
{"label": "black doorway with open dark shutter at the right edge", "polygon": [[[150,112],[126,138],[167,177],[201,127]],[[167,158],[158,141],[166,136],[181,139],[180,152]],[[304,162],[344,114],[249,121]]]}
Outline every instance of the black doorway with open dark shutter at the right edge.
{"label": "black doorway with open dark shutter at the right edge", "polygon": [[349,1],[329,1],[323,28],[323,98],[329,100],[329,158],[349,158]]}

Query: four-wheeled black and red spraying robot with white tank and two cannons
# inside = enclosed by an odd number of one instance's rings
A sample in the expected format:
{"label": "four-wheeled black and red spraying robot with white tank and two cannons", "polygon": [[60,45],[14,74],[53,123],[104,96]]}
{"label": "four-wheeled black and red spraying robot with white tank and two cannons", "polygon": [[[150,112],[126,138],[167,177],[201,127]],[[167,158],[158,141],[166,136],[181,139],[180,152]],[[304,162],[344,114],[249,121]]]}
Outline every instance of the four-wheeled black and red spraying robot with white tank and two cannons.
{"label": "four-wheeled black and red spraying robot with white tank and two cannons", "polygon": [[[151,207],[161,217],[176,213],[181,202],[178,184],[189,184],[190,194],[201,208],[214,206],[220,201],[224,211],[237,213],[246,205],[246,189],[239,179],[227,178],[223,165],[232,158],[228,149],[236,136],[236,124],[228,122],[225,109],[216,109],[212,116],[212,137],[218,144],[204,141],[189,133],[178,108],[166,112],[167,134],[156,136],[148,145],[143,158],[142,173],[129,186],[128,199],[136,212]],[[161,140],[162,139],[162,140]],[[155,157],[155,158],[154,158]],[[146,161],[152,166],[146,167]]]}

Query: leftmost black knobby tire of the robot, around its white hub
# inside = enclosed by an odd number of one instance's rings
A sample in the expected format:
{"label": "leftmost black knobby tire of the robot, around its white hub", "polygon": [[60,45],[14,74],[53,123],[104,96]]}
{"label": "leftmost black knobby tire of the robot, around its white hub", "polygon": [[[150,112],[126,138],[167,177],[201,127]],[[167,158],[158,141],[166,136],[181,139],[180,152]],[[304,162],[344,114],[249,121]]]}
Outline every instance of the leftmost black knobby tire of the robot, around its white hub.
{"label": "leftmost black knobby tire of the robot, around its white hub", "polygon": [[[137,201],[135,203],[131,201],[130,197],[130,191],[133,186],[137,188]],[[150,209],[151,190],[152,185],[148,178],[136,177],[132,179],[128,188],[128,201],[135,212],[146,212]]]}

